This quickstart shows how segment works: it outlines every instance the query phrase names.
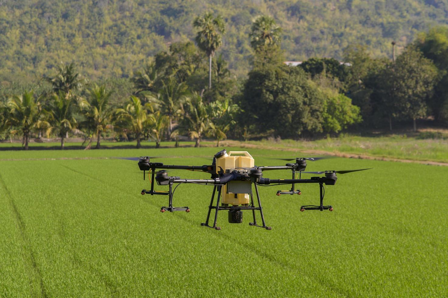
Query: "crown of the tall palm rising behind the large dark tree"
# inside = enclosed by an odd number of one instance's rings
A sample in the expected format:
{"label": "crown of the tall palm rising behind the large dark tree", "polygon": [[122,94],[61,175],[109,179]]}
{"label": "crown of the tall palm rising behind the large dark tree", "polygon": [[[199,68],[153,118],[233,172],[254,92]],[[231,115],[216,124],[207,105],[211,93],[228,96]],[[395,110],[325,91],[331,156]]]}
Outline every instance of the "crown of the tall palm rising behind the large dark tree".
{"label": "crown of the tall palm rising behind the large dark tree", "polygon": [[258,16],[252,23],[250,45],[254,50],[264,46],[280,44],[280,33],[282,29],[276,25],[273,17]]}

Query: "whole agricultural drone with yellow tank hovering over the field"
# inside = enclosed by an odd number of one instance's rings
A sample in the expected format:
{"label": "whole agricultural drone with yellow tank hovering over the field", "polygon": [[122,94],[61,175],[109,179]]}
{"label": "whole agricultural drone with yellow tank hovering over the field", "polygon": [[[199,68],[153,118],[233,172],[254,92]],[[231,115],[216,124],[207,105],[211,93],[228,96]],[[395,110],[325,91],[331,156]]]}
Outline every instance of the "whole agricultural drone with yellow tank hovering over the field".
{"label": "whole agricultural drone with yellow tank hovering over the field", "polygon": [[[261,207],[260,195],[258,194],[258,186],[275,186],[275,185],[291,185],[290,190],[278,190],[276,195],[282,194],[302,194],[300,190],[296,190],[295,185],[300,183],[316,183],[320,187],[320,204],[306,205],[300,207],[300,211],[305,210],[329,210],[333,211],[333,207],[330,205],[323,205],[323,198],[325,195],[324,185],[335,185],[337,176],[336,174],[345,174],[356,171],[367,170],[368,168],[358,170],[346,170],[346,171],[321,171],[321,172],[304,172],[306,168],[306,161],[314,161],[322,159],[322,157],[297,157],[294,159],[286,159],[293,161],[292,163],[285,164],[284,166],[263,166],[258,167],[254,165],[254,159],[247,151],[227,151],[221,150],[215,154],[211,165],[192,166],[192,165],[168,165],[159,162],[151,162],[154,157],[132,157],[125,158],[129,160],[138,160],[138,167],[143,171],[143,179],[145,179],[146,171],[149,171],[148,177],[151,176],[151,190],[142,190],[141,194],[151,195],[168,195],[168,207],[161,207],[160,212],[174,212],[185,211],[190,212],[189,207],[173,207],[173,194],[182,183],[195,183],[199,185],[211,185],[213,186],[213,192],[211,193],[210,205],[208,207],[207,219],[205,223],[201,223],[202,226],[220,230],[221,228],[216,226],[216,220],[218,218],[218,211],[228,211],[228,222],[233,224],[241,224],[243,222],[244,210],[252,210],[254,218],[253,222],[249,225],[261,227],[270,230],[271,227],[267,226],[264,221],[263,208]],[[189,171],[202,171],[211,174],[210,179],[181,179],[181,177],[168,176],[167,170],[189,170]],[[263,178],[263,171],[270,170],[291,170],[292,179],[270,179]],[[297,179],[297,173],[299,179]],[[320,176],[311,177],[310,179],[301,179],[302,173],[311,173]],[[159,186],[168,186],[168,191],[154,190],[154,181]],[[174,186],[176,185],[176,186]],[[174,188],[173,188],[174,186]],[[258,206],[254,204],[254,195],[252,188],[255,190]],[[214,203],[215,196],[217,197],[216,203]],[[215,209],[215,220],[213,225],[209,225],[211,210]],[[257,224],[255,219],[255,210],[260,212],[262,225]]]}

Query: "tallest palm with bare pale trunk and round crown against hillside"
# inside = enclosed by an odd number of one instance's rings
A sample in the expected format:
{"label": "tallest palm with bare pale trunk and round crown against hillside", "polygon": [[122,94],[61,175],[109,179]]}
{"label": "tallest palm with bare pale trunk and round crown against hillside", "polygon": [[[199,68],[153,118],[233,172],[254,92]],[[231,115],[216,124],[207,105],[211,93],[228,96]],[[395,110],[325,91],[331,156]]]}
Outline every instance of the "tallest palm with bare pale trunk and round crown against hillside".
{"label": "tallest palm with bare pale trunk and round crown against hillside", "polygon": [[224,20],[220,15],[214,17],[212,13],[206,13],[203,17],[196,17],[193,26],[199,29],[196,43],[209,59],[208,88],[211,89],[211,58],[222,44],[222,37],[219,33],[225,33]]}

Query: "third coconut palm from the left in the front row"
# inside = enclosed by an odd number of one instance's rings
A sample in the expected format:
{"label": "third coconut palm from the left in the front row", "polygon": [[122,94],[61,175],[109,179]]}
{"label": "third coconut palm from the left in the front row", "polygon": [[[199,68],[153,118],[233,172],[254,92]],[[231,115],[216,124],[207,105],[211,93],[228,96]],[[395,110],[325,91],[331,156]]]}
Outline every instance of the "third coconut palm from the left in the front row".
{"label": "third coconut palm from the left in the front row", "polygon": [[109,104],[111,94],[111,91],[106,91],[105,86],[95,84],[89,90],[88,100],[82,102],[86,122],[94,129],[97,136],[96,149],[99,149],[101,133],[108,129],[114,113],[114,108]]}

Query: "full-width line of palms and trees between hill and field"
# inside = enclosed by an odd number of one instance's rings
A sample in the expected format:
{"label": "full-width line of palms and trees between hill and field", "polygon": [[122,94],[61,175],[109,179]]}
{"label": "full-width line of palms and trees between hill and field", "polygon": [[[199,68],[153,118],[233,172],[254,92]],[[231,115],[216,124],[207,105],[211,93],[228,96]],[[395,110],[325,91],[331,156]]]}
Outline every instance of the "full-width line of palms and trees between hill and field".
{"label": "full-width line of palms and trees between hill and field", "polygon": [[[129,79],[90,82],[73,63],[62,65],[33,88],[0,90],[0,132],[29,139],[81,134],[90,148],[101,135],[141,140],[202,138],[299,138],[335,134],[350,125],[383,125],[434,116],[448,118],[447,30],[422,33],[393,60],[372,58],[365,47],[349,46],[346,63],[311,58],[284,62],[283,29],[272,17],[256,17],[249,40],[252,70],[245,79],[215,55],[226,32],[222,17],[205,13],[193,22],[196,44],[172,43]],[[445,52],[444,52],[445,51]],[[22,88],[23,89],[23,88]],[[444,112],[445,111],[445,112]]]}

